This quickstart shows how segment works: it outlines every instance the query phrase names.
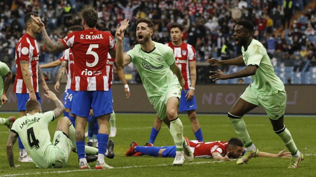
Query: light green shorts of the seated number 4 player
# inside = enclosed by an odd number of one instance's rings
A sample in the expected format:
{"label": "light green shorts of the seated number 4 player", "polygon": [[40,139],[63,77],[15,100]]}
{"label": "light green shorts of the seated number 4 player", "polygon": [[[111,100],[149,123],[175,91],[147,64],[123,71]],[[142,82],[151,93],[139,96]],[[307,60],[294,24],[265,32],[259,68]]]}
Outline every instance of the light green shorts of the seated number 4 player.
{"label": "light green shorts of the seated number 4 player", "polygon": [[63,168],[67,165],[72,149],[72,142],[62,131],[56,131],[54,134],[53,144],[56,151],[54,167]]}

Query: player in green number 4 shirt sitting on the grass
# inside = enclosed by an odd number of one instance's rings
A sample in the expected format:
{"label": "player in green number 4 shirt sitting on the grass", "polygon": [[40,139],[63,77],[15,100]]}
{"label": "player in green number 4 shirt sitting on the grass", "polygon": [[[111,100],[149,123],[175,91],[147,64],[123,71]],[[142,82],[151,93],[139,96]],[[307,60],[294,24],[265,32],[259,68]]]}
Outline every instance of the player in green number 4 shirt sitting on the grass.
{"label": "player in green number 4 shirt sitting on the grass", "polygon": [[[28,100],[26,103],[27,115],[23,116],[13,123],[7,143],[7,156],[10,167],[19,167],[14,164],[13,145],[19,136],[24,147],[33,162],[38,168],[62,168],[65,167],[70,155],[70,151],[76,152],[76,135],[75,128],[68,117],[62,117],[58,120],[57,128],[54,134],[53,142],[48,131],[48,124],[58,118],[64,111],[65,107],[56,95],[47,91],[44,94],[46,99],[55,102],[56,109],[42,113],[40,102],[37,100]],[[110,140],[111,141],[111,140]],[[112,148],[108,150],[108,155],[114,157],[113,141]],[[98,149],[86,147],[86,154],[94,155],[87,158],[90,162],[97,159]]]}

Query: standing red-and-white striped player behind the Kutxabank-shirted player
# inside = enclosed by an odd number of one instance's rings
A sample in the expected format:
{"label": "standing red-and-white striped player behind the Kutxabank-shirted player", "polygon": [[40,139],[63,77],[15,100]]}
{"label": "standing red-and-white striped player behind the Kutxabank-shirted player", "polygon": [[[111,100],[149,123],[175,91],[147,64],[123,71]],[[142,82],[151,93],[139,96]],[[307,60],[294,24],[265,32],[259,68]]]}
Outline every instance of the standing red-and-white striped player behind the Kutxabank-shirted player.
{"label": "standing red-and-white striped player behind the Kutxabank-shirted player", "polygon": [[[185,80],[185,91],[181,92],[181,100],[179,111],[187,111],[189,119],[191,121],[191,128],[197,140],[203,141],[202,130],[200,123],[197,120],[196,109],[197,104],[195,101],[195,81],[196,81],[196,57],[195,49],[187,43],[182,42],[183,26],[179,23],[173,23],[170,25],[170,33],[172,41],[166,45],[173,49],[176,64],[179,66],[182,76]],[[189,69],[190,68],[190,69]],[[185,95],[185,96],[183,96]],[[149,137],[149,143],[154,144],[155,139],[161,128],[162,121],[157,116],[154,122],[151,134]]]}

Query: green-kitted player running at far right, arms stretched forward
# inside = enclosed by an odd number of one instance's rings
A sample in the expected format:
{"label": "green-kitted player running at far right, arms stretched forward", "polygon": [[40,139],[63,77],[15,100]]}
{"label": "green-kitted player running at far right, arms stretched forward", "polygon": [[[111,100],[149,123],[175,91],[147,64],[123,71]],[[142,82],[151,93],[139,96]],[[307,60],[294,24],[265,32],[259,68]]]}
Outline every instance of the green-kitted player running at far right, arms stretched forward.
{"label": "green-kitted player running at far right, arms stretched forward", "polygon": [[283,124],[286,105],[284,85],[280,78],[275,75],[266,49],[259,41],[252,38],[252,32],[253,25],[250,21],[239,21],[234,29],[234,38],[236,45],[242,46],[242,56],[231,60],[217,60],[214,58],[207,60],[212,66],[247,66],[239,72],[228,75],[221,70],[210,71],[214,73],[210,76],[213,81],[247,76],[252,76],[254,80],[228,112],[229,120],[246,146],[246,153],[237,161],[237,164],[247,163],[250,158],[257,157],[259,154],[258,149],[250,139],[242,116],[262,105],[269,116],[273,131],[280,136],[292,154],[289,168],[297,168],[303,160],[303,154],[297,150],[289,130]]}

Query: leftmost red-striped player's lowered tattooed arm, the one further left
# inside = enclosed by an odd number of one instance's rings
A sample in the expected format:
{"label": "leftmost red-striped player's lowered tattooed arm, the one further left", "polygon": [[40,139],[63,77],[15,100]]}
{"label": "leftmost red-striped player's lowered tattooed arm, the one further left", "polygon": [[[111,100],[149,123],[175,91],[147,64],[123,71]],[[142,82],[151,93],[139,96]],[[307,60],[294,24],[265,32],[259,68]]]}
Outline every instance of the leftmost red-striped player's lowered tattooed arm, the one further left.
{"label": "leftmost red-striped player's lowered tattooed arm, the one further left", "polygon": [[36,100],[36,95],[34,92],[34,88],[32,85],[32,77],[30,74],[30,71],[28,70],[30,63],[27,60],[20,60],[20,66],[21,66],[21,72],[22,72],[22,76],[23,76],[23,81],[26,85],[26,88],[29,91],[29,96],[31,100]]}

